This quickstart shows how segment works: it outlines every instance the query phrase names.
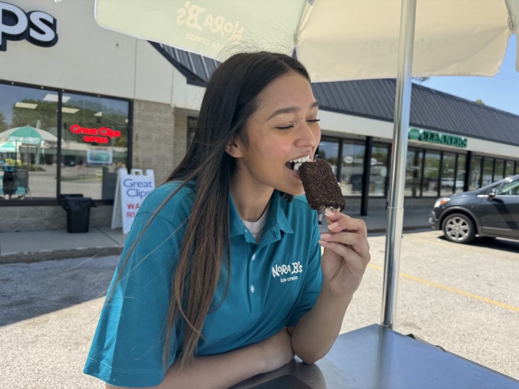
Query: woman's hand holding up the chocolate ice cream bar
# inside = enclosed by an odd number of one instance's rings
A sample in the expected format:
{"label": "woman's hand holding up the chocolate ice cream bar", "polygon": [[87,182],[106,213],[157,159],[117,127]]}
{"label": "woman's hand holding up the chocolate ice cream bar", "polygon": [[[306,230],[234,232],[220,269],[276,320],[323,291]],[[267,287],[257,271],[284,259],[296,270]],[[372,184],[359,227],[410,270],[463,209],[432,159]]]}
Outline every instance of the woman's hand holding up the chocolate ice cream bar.
{"label": "woman's hand holding up the chocolate ice cream bar", "polygon": [[324,247],[321,258],[323,288],[328,288],[334,297],[351,296],[359,287],[371,259],[366,224],[341,212],[325,216],[331,224],[329,232],[322,233],[319,241]]}

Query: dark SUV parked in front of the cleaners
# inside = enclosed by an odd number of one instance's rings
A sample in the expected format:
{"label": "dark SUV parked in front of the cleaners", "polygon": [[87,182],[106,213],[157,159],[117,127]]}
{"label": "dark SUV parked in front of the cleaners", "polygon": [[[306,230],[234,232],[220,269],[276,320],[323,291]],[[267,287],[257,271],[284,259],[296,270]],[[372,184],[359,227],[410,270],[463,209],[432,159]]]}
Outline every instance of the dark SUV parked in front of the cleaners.
{"label": "dark SUV parked in front of the cleaners", "polygon": [[519,175],[436,200],[429,223],[456,243],[469,243],[476,234],[519,239]]}

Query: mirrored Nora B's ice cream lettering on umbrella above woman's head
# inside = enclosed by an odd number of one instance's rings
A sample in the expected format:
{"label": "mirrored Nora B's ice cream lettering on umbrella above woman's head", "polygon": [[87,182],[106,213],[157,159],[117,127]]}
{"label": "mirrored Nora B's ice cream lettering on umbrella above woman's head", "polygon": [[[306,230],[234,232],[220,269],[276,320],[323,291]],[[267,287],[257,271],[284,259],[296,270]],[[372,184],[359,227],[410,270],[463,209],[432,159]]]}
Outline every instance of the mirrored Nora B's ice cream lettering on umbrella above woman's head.
{"label": "mirrored Nora B's ice cream lettering on umbrella above woman's head", "polygon": [[[220,43],[214,41],[218,38],[227,37],[230,41],[239,41],[243,37],[243,27],[238,21],[228,21],[220,15],[207,12],[206,8],[192,4],[187,1],[184,6],[176,11],[176,24],[186,26],[205,36],[196,33],[187,33],[185,39],[193,40],[203,45],[221,49]],[[216,36],[215,36],[216,35]]]}

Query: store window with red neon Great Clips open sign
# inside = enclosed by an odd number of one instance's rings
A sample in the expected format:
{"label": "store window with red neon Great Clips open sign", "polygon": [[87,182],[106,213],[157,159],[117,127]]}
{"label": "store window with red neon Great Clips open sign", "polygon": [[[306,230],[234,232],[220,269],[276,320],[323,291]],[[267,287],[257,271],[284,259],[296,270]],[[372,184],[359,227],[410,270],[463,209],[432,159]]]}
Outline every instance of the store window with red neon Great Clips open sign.
{"label": "store window with red neon Great Clips open sign", "polygon": [[63,92],[61,193],[113,200],[128,161],[129,102]]}

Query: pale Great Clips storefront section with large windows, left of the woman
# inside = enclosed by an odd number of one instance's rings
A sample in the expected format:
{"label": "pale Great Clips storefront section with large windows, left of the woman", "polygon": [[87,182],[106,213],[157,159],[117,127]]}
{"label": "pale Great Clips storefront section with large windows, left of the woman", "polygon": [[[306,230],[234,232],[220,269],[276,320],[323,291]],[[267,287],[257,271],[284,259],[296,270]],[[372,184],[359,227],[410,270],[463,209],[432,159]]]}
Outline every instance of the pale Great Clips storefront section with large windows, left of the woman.
{"label": "pale Great Clips storefront section with large windows, left of the woman", "polygon": [[66,228],[72,193],[97,203],[91,227],[110,226],[118,168],[153,169],[158,185],[185,153],[196,112],[183,107],[203,88],[147,41],[101,29],[93,6],[0,1],[0,232]]}

